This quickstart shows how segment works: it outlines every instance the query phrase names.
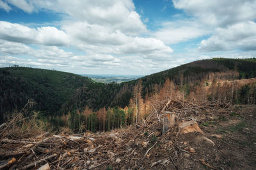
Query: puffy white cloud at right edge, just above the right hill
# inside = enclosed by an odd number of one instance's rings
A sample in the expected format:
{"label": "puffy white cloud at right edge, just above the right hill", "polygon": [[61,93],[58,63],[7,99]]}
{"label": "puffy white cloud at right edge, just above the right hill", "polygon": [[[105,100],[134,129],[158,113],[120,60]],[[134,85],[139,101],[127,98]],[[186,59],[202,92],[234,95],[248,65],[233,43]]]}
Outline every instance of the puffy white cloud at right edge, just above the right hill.
{"label": "puffy white cloud at right edge, just above the right hill", "polygon": [[217,28],[212,36],[201,41],[199,50],[213,52],[223,50],[256,50],[256,23],[252,21]]}

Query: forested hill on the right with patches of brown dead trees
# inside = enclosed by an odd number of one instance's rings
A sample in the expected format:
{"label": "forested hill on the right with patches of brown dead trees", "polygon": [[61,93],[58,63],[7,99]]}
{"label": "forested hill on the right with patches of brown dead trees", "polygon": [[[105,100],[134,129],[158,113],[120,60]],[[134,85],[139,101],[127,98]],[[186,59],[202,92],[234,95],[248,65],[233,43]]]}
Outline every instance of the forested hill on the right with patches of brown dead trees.
{"label": "forested hill on the right with patches of brown dead trees", "polygon": [[[145,99],[152,92],[156,92],[163,87],[167,78],[176,85],[186,85],[188,83],[204,80],[211,73],[225,73],[221,76],[232,76],[235,79],[256,77],[256,59],[208,59],[197,60],[172,69],[167,69],[159,73],[150,74],[137,80],[108,85],[94,84],[82,87],[77,90],[70,100],[62,107],[61,112],[67,113],[72,110],[83,110],[85,106],[97,111],[100,108],[113,108],[120,106],[124,108],[129,104],[134,94],[134,87],[140,90],[141,96]],[[235,74],[236,73],[236,74]]]}

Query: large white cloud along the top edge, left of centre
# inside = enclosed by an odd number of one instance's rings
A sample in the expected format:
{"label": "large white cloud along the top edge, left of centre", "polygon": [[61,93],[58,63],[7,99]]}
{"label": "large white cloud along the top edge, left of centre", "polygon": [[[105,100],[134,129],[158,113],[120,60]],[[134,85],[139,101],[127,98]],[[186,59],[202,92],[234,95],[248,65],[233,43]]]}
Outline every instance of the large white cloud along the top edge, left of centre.
{"label": "large white cloud along the top edge, left of centre", "polygon": [[[136,13],[132,0],[8,0],[8,3],[28,13],[40,10],[50,10],[65,13],[75,20],[89,24],[111,25],[125,34],[138,35],[146,31],[146,27]],[[8,4],[6,4],[8,5]]]}

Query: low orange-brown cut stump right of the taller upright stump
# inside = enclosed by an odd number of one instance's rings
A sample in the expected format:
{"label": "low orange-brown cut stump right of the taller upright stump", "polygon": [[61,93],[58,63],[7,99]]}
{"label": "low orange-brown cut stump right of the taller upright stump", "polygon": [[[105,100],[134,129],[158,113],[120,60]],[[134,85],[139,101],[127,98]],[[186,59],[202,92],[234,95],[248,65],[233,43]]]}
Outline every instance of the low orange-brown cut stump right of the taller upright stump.
{"label": "low orange-brown cut stump right of the taller upright stump", "polygon": [[200,129],[195,120],[191,120],[189,122],[182,122],[179,124],[179,132],[183,134],[187,134],[190,132],[200,132],[204,134],[204,132]]}

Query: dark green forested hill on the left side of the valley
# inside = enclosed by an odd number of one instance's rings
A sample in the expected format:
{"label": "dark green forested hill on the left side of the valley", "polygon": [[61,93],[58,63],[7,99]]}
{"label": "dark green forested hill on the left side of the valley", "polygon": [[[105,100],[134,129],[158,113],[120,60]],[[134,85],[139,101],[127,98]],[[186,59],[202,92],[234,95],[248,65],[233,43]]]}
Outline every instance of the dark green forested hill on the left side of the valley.
{"label": "dark green forested hill on the left side of the valley", "polygon": [[94,83],[77,74],[29,67],[0,68],[0,122],[28,100],[36,111],[54,115],[79,87]]}

